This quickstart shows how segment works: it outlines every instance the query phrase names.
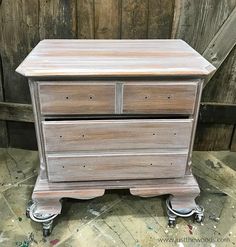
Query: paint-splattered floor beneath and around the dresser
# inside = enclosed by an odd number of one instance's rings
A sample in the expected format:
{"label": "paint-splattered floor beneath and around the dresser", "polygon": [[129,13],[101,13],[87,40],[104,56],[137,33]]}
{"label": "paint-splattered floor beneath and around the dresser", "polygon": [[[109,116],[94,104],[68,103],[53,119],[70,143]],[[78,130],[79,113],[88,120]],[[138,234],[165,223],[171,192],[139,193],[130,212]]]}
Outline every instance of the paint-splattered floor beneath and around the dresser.
{"label": "paint-splattered floor beneath and around the dresser", "polygon": [[[235,170],[236,153],[211,154]],[[206,211],[202,224],[178,218],[176,228],[169,228],[165,197],[108,191],[93,200],[65,200],[52,235],[43,238],[41,225],[25,217],[37,167],[37,152],[0,149],[0,246],[236,246],[236,202],[204,178],[197,199]]]}

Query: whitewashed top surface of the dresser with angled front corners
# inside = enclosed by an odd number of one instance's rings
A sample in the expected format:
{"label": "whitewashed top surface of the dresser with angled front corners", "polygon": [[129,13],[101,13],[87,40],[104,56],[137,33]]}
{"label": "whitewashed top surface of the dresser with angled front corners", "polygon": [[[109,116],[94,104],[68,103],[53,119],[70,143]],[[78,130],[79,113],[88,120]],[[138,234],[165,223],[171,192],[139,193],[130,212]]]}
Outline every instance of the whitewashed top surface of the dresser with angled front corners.
{"label": "whitewashed top surface of the dresser with angled front corners", "polygon": [[215,67],[183,40],[43,40],[16,71],[27,77],[206,76]]}

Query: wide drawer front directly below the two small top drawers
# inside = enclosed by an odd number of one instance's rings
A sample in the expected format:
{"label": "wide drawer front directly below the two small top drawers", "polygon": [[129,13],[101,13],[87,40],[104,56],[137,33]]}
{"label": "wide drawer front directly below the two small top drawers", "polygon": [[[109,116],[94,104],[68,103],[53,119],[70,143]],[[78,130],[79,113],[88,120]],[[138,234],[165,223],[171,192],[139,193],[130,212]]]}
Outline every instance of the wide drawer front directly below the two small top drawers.
{"label": "wide drawer front directly below the two small top drawers", "polygon": [[188,148],[192,119],[42,122],[47,152]]}

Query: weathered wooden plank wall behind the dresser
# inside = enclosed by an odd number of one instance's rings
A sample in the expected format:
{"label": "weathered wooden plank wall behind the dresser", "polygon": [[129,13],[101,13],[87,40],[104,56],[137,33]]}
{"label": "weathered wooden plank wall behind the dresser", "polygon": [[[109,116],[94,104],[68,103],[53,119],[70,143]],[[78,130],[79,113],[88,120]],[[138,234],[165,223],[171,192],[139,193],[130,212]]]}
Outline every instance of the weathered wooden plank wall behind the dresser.
{"label": "weathered wooden plank wall behind the dresser", "polygon": [[[14,70],[42,39],[181,38],[202,54],[235,6],[236,0],[0,1],[0,101],[30,103],[27,81]],[[235,58],[234,47],[204,89],[203,102],[236,104]],[[199,124],[195,149],[235,147],[234,129],[234,124]],[[9,141],[36,148],[29,122],[0,121],[0,138],[1,146]]]}

